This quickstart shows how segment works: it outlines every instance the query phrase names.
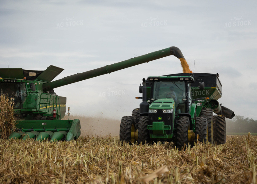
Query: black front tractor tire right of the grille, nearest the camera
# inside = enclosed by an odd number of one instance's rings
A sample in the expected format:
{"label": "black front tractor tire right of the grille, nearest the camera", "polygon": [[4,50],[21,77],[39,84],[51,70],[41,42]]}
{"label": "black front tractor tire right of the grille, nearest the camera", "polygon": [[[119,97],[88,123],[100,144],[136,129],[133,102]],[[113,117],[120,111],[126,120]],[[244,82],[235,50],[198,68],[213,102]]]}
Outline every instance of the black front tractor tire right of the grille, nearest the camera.
{"label": "black front tractor tire right of the grille, nearest the camera", "polygon": [[175,132],[175,144],[179,150],[182,150],[188,146],[188,130],[190,129],[189,117],[182,116],[177,120],[176,132]]}

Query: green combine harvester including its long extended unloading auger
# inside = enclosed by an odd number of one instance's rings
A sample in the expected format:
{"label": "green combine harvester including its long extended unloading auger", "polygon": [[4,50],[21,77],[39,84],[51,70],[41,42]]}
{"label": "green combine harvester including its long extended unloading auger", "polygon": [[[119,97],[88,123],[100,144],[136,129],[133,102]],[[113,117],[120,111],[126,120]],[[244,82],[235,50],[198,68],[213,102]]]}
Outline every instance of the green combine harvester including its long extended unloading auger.
{"label": "green combine harvester including its long extended unloading auger", "polygon": [[177,47],[169,47],[94,70],[52,81],[64,69],[49,66],[45,71],[1,68],[0,88],[14,100],[17,129],[9,139],[73,140],[80,136],[80,121],[61,120],[65,115],[66,97],[57,96],[54,88],[97,77],[138,64],[174,55],[183,58]]}

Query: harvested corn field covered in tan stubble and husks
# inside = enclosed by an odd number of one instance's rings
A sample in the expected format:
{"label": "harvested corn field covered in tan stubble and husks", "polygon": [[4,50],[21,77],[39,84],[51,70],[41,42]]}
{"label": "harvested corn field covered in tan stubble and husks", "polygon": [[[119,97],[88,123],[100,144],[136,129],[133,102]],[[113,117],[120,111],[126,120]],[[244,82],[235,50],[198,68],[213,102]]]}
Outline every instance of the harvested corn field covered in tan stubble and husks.
{"label": "harvested corn field covered in tan stubble and husks", "polygon": [[118,137],[0,140],[1,183],[256,183],[257,136],[177,151],[168,142],[123,146]]}

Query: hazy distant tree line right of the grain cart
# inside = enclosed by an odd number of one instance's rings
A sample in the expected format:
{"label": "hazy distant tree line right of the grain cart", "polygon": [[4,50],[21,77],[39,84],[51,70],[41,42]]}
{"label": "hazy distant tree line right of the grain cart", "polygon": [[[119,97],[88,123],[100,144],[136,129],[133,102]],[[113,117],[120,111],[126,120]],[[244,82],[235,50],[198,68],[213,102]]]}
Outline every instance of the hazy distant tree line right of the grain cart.
{"label": "hazy distant tree line right of the grain cart", "polygon": [[226,118],[226,132],[257,133],[257,120],[243,116],[235,116],[233,119]]}

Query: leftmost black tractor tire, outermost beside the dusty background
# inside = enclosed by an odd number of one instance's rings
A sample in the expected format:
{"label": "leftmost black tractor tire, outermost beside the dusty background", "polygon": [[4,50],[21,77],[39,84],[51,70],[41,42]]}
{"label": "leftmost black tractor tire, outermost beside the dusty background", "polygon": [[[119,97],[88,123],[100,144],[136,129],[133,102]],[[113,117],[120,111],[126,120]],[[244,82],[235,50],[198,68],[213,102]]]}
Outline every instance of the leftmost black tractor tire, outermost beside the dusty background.
{"label": "leftmost black tractor tire, outermost beside the dusty background", "polygon": [[120,121],[120,128],[119,128],[119,140],[123,143],[126,141],[128,143],[134,142],[131,139],[131,131],[135,131],[135,124],[133,121],[132,116],[123,116]]}

